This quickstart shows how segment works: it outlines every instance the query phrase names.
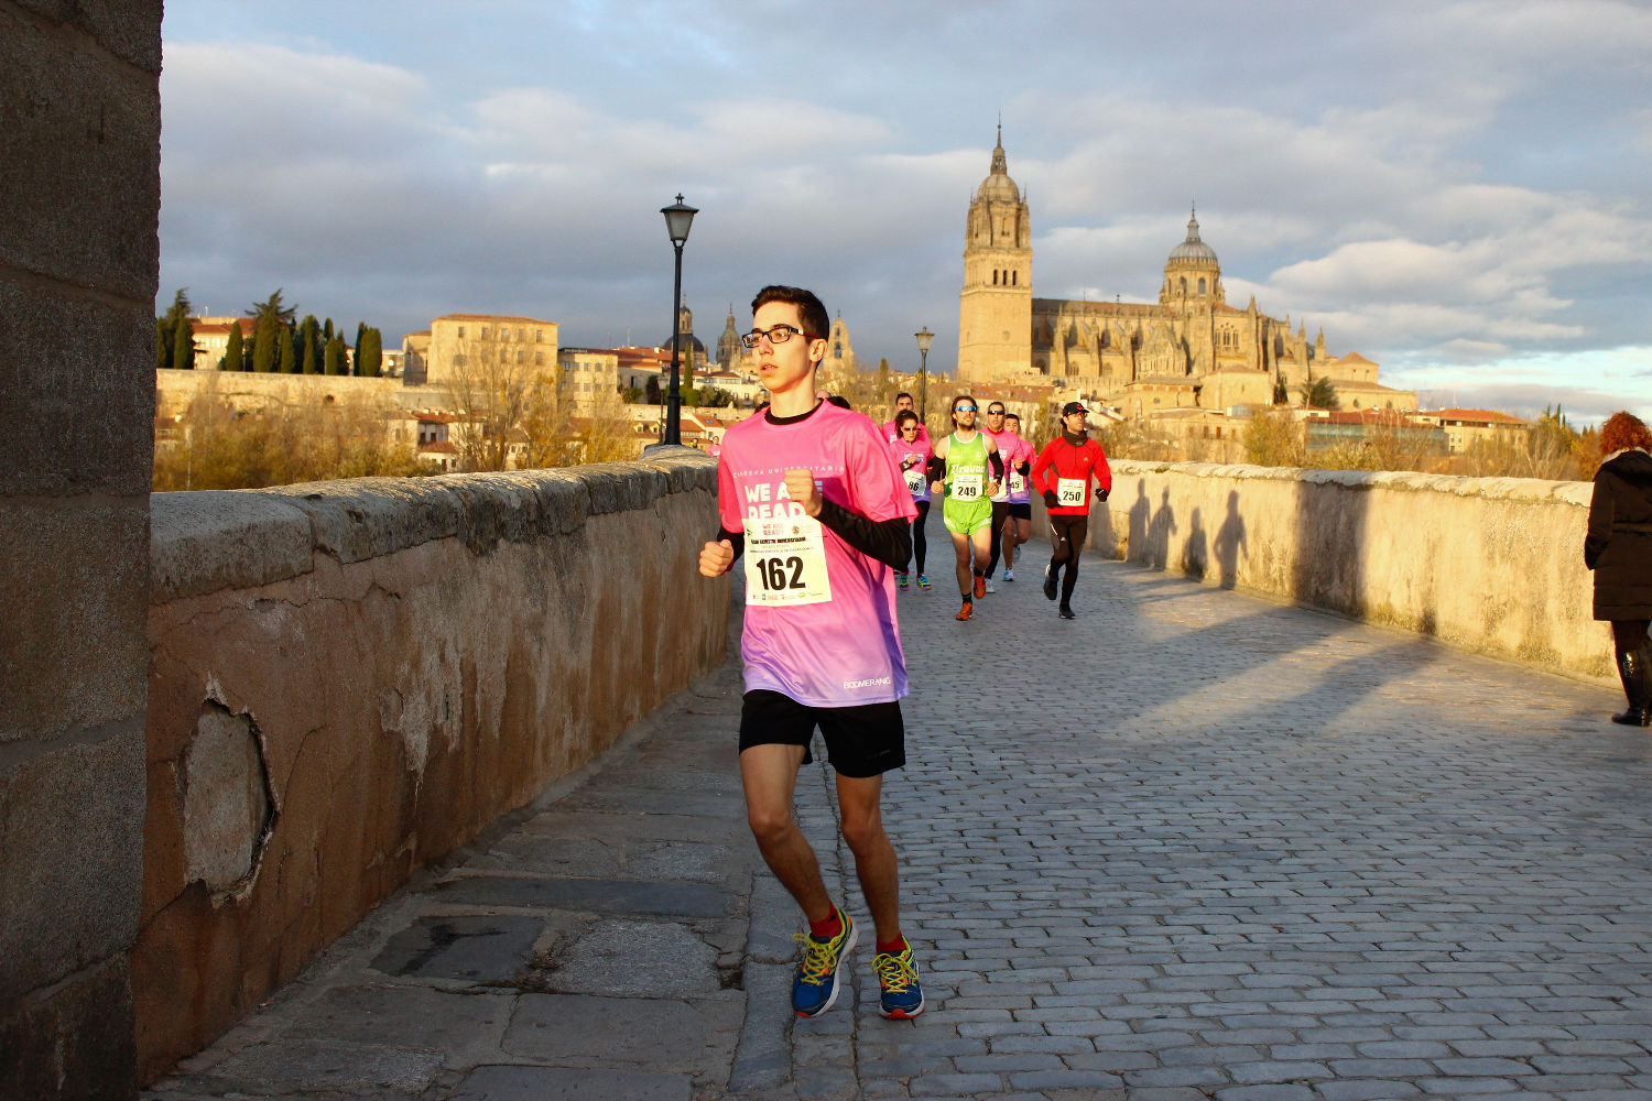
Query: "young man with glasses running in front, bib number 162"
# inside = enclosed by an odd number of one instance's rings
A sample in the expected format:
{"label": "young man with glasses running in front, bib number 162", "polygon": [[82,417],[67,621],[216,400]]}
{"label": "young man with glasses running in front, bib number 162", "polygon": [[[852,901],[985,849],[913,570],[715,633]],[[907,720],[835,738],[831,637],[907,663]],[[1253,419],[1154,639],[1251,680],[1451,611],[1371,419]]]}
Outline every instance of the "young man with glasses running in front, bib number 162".
{"label": "young man with glasses running in front, bib number 162", "polygon": [[819,726],[838,773],[843,839],[877,929],[872,969],[885,1017],[923,1012],[912,944],[900,933],[894,845],[882,825],[882,774],[905,764],[905,654],[895,569],[912,555],[912,494],[871,418],[814,396],[831,319],[811,292],[763,287],[752,332],[770,393],[765,413],[724,434],[717,465],[722,530],[700,573],[745,556],[745,702],[740,781],[763,860],[809,924],[791,1007],[818,1017],[838,1000],[859,929],[833,901],[791,817],[798,769]]}

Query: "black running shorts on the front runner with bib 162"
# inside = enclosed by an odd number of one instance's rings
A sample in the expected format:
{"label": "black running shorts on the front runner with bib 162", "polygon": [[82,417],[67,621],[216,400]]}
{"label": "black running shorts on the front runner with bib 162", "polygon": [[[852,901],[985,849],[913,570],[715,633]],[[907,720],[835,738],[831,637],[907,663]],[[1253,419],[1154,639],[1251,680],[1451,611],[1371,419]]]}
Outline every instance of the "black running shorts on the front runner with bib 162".
{"label": "black running shorts on the front runner with bib 162", "polygon": [[907,763],[907,728],[900,703],[859,706],[809,706],[783,692],[758,688],[740,706],[740,749],[752,746],[803,746],[803,763],[814,759],[809,740],[814,726],[826,740],[826,759],[839,776],[864,779]]}

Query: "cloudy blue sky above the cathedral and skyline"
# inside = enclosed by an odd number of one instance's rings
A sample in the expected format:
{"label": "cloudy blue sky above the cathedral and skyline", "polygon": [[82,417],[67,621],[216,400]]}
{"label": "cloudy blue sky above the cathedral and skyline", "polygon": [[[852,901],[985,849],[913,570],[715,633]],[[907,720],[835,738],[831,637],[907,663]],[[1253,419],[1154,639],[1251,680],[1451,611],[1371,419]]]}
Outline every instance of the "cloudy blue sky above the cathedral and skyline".
{"label": "cloudy blue sky above the cathedral and skyline", "polygon": [[1389,385],[1652,413],[1652,7],[169,0],[160,304],[387,343],[448,312],[695,332],[816,289],[857,355],[957,355],[1003,114],[1041,297],[1151,300],[1188,206],[1227,299]]}

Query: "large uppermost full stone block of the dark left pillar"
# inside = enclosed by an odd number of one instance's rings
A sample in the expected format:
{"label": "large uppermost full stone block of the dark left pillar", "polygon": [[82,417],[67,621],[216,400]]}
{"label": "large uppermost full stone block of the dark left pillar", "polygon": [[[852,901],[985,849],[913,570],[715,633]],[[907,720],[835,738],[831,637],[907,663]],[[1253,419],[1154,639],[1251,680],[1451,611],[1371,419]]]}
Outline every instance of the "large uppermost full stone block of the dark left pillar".
{"label": "large uppermost full stone block of the dark left pillar", "polygon": [[[137,7],[135,26],[154,10]],[[0,7],[0,264],[147,307],[160,271],[159,73]]]}

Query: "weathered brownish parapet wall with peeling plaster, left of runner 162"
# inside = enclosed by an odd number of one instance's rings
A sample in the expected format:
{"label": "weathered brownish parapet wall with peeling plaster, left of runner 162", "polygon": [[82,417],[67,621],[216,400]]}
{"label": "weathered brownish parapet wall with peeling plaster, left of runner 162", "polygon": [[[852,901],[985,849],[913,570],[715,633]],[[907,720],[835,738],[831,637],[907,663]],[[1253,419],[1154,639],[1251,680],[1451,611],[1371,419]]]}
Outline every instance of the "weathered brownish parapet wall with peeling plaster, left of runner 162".
{"label": "weathered brownish parapet wall with peeling plaster, left of runner 162", "polygon": [[724,657],[715,462],[154,497],[140,1075]]}

